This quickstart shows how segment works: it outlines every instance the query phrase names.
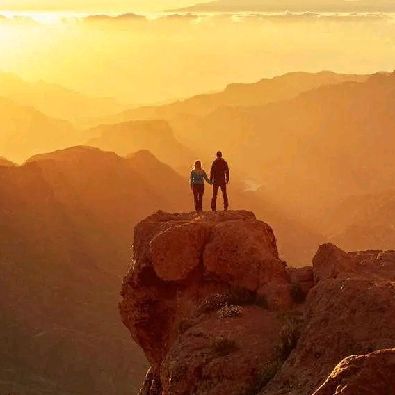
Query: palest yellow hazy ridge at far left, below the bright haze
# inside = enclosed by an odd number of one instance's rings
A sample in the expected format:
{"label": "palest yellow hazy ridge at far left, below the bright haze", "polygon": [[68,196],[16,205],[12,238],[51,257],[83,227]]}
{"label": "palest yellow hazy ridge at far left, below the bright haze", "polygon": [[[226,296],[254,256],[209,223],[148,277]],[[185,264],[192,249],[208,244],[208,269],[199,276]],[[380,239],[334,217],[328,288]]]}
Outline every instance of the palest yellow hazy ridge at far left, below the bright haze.
{"label": "palest yellow hazy ridge at far left, below the bright haze", "polygon": [[28,83],[10,73],[0,72],[0,87],[0,95],[3,97],[24,106],[33,106],[49,117],[74,123],[103,114],[117,113],[124,108],[114,99],[88,97],[44,81]]}

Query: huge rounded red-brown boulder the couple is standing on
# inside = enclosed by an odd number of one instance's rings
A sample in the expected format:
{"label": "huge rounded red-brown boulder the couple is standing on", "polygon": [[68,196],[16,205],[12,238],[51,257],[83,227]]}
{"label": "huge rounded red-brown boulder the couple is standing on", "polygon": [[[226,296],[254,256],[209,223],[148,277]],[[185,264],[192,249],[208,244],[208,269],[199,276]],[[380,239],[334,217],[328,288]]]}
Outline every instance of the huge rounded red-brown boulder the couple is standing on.
{"label": "huge rounded red-brown boulder the couple is standing on", "polygon": [[280,309],[296,305],[291,290],[271,227],[252,213],[158,212],[143,220],[120,302],[152,365],[141,394],[220,395],[259,385],[259,366],[271,374],[280,367],[265,368],[282,353],[288,319]]}

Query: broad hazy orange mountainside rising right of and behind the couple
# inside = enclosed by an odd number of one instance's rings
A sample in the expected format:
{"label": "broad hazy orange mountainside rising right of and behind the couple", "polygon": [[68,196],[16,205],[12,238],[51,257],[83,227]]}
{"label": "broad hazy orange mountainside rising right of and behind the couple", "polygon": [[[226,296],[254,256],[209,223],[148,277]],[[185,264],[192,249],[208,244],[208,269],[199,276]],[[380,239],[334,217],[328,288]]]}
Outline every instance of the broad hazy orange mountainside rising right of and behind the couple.
{"label": "broad hazy orange mountainside rising right of and behind the couple", "polygon": [[[299,213],[344,248],[364,249],[376,238],[366,229],[358,247],[353,232],[344,233],[356,229],[356,219],[344,213],[348,220],[336,226],[328,209],[349,196],[363,200],[391,188],[394,75],[291,73],[112,119],[166,118],[177,139],[198,154],[207,146],[222,149],[241,177],[264,185],[266,198]],[[390,247],[388,240],[381,248]]]}

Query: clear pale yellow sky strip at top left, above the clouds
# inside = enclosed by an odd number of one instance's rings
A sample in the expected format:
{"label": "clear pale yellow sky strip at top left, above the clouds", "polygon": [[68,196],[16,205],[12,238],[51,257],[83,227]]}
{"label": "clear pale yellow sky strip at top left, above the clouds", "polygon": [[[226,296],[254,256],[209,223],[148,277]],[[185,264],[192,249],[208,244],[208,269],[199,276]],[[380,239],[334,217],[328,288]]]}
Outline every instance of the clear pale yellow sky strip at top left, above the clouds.
{"label": "clear pale yellow sky strip at top left, above the clouds", "polygon": [[204,2],[204,0],[0,0],[0,10],[152,12]]}

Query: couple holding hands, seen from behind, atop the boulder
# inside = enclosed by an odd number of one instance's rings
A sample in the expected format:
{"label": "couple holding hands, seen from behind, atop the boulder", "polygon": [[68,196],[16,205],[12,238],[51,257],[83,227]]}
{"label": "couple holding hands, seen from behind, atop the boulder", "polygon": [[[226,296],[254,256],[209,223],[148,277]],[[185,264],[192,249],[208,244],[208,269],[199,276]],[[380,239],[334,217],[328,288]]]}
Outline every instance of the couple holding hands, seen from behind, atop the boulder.
{"label": "couple holding hands, seen from behind, atop the boulder", "polygon": [[191,171],[190,184],[193,191],[196,212],[203,211],[204,179],[213,185],[213,198],[211,200],[211,210],[216,211],[218,189],[221,188],[223,194],[223,208],[227,211],[229,205],[227,200],[226,186],[229,183],[229,166],[222,157],[222,152],[217,152],[217,159],[211,166],[210,179],[202,169],[202,163],[195,161],[195,166]]}

